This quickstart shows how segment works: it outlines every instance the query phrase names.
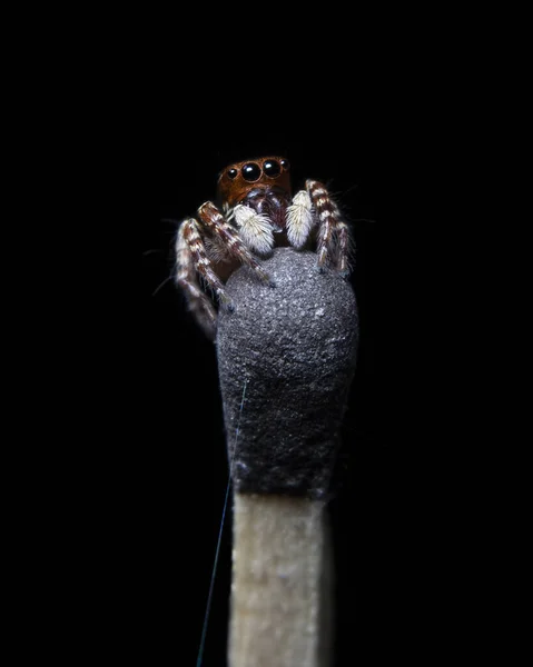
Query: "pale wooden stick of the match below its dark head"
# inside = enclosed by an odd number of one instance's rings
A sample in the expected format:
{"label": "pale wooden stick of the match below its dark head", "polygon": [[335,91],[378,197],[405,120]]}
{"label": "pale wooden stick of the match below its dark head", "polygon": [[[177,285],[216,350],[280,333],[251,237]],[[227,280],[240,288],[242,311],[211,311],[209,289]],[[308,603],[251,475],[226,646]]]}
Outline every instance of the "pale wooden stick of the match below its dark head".
{"label": "pale wooden stick of the match below its dark head", "polygon": [[230,667],[330,664],[325,504],[235,494]]}

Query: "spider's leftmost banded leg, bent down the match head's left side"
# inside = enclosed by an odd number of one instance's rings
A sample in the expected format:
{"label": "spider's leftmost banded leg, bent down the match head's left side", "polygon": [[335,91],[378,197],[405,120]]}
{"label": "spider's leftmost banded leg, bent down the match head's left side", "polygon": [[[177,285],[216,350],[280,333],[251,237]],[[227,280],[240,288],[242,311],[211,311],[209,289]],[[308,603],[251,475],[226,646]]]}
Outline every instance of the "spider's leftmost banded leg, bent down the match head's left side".
{"label": "spider's leftmost banded leg, bent down the match head's left side", "polygon": [[209,298],[201,290],[198,273],[213,288],[221,301],[228,301],[224,286],[211,268],[206,253],[198,222],[184,220],[176,237],[176,282],[182,289],[190,311],[209,338],[215,337],[217,313]]}

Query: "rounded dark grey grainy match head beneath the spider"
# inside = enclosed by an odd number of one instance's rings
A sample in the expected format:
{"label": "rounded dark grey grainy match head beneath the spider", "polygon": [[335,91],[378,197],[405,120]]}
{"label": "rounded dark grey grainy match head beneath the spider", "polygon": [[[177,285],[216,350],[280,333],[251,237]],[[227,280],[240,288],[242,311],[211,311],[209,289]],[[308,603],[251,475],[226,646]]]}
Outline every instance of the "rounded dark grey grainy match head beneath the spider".
{"label": "rounded dark grey grainy match head beneath the spider", "polygon": [[235,309],[218,320],[235,489],[326,498],[355,370],[355,295],[313,252],[277,248],[261,263],[276,287],[240,268],[226,285]]}

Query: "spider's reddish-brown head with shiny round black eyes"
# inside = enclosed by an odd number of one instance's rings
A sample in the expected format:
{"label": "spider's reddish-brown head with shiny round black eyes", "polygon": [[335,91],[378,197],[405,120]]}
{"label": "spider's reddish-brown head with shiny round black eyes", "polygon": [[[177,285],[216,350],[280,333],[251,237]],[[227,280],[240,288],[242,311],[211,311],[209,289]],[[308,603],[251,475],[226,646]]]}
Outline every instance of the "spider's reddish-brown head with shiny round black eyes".
{"label": "spider's reddish-brown head with shiny round black eyes", "polygon": [[283,190],[290,197],[288,160],[280,157],[258,158],[229,165],[218,177],[218,195],[230,208],[240,203],[250,190]]}

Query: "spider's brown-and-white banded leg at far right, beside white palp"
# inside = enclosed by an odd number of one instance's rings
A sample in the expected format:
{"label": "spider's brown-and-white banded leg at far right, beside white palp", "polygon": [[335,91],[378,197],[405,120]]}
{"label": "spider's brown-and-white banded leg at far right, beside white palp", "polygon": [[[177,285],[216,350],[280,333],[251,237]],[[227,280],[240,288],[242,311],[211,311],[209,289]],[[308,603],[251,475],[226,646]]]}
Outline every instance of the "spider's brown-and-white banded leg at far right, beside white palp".
{"label": "spider's brown-and-white banded leg at far right, beside white palp", "polygon": [[323,183],[307,180],[305,186],[318,221],[318,268],[333,263],[338,271],[347,276],[351,240],[348,226]]}

